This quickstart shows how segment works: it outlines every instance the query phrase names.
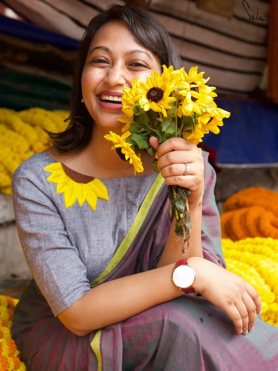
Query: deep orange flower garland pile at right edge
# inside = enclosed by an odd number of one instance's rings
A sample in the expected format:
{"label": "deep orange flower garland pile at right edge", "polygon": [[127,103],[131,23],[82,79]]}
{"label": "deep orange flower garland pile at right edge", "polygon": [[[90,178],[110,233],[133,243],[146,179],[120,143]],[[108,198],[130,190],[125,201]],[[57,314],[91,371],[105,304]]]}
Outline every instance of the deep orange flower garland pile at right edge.
{"label": "deep orange flower garland pile at right edge", "polygon": [[235,193],[224,203],[221,215],[223,238],[233,241],[246,237],[278,239],[278,192],[251,187]]}

